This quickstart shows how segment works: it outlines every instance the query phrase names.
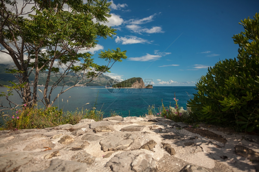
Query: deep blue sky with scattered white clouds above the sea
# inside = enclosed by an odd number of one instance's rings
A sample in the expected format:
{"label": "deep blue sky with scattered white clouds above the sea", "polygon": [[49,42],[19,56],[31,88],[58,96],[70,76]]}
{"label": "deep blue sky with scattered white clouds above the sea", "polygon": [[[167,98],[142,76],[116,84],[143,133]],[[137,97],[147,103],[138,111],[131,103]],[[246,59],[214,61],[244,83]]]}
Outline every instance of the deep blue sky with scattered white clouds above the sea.
{"label": "deep blue sky with scattered white clouds above the sea", "polygon": [[237,56],[232,37],[244,30],[239,22],[259,12],[258,0],[109,2],[112,16],[106,25],[117,29],[117,35],[99,39],[89,52],[105,65],[98,59],[101,50],[126,50],[128,58],[105,75],[120,81],[141,77],[153,86],[195,86],[208,67]]}

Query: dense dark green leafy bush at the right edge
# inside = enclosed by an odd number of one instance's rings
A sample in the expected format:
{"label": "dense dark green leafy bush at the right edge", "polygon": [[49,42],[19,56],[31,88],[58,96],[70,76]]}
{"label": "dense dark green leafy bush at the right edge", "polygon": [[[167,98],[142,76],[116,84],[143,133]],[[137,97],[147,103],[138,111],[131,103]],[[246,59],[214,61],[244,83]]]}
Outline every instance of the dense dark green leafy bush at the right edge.
{"label": "dense dark green leafy bush at the right edge", "polygon": [[259,129],[259,14],[241,20],[245,31],[234,35],[238,56],[208,68],[188,101],[192,115],[207,123]]}

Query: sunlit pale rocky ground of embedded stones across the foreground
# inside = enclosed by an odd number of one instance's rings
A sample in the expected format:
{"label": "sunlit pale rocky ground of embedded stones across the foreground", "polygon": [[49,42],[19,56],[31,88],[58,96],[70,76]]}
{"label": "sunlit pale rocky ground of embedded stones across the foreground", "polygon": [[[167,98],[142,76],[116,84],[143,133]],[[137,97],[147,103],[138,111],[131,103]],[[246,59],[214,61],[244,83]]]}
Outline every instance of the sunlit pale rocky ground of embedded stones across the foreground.
{"label": "sunlit pale rocky ground of embedded stones across the foreground", "polygon": [[170,119],[114,116],[0,131],[0,171],[258,171],[259,136]]}

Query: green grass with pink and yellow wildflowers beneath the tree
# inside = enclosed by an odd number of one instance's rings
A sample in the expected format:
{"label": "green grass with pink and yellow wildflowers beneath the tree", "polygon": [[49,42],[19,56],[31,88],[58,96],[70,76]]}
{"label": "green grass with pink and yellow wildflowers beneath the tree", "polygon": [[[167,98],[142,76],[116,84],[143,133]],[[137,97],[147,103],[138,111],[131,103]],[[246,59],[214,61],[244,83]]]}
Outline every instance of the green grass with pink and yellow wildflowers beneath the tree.
{"label": "green grass with pink and yellow wildflowers beneath the tree", "polygon": [[40,108],[26,108],[22,107],[17,110],[15,115],[2,115],[4,124],[0,129],[18,130],[31,128],[48,128],[62,124],[77,124],[81,119],[94,119],[100,121],[103,119],[103,112],[101,110],[76,110],[74,112],[63,112],[58,110],[58,107],[48,107],[46,109]]}

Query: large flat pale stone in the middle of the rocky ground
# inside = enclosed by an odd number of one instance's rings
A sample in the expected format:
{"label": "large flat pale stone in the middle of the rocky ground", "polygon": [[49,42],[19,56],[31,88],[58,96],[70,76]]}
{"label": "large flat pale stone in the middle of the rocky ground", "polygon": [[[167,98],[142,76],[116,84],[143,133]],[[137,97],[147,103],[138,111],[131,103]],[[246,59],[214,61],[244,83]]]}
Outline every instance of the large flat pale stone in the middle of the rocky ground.
{"label": "large flat pale stone in the middle of the rocky ground", "polygon": [[137,136],[135,134],[111,134],[100,140],[101,150],[116,151],[129,147]]}

